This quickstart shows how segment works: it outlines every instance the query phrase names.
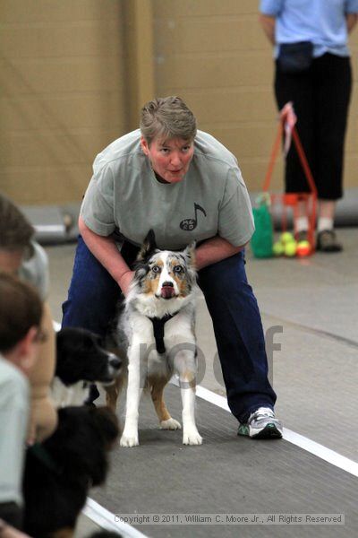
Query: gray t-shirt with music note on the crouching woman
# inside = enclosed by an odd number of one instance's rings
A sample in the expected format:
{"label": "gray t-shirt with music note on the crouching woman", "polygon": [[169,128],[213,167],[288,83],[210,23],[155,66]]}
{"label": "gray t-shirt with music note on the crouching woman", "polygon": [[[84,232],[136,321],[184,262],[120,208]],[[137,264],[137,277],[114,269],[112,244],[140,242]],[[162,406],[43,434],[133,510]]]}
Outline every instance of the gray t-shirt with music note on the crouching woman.
{"label": "gray t-shirt with music note on the crouching woman", "polygon": [[254,230],[250,198],[234,155],[213,136],[198,131],[182,181],[160,183],[141,150],[137,129],[98,154],[81,205],[90,230],[115,230],[141,245],[150,229],[159,248],[180,249],[216,235],[238,247]]}

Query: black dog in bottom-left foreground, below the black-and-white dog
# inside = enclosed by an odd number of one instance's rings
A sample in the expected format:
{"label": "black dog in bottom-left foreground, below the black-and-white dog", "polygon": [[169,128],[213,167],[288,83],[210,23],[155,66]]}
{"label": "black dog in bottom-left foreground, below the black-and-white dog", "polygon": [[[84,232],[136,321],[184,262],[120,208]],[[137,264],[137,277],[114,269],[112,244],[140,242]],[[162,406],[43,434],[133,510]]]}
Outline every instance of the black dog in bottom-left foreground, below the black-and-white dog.
{"label": "black dog in bottom-left foreground, below the black-and-white dog", "polygon": [[58,410],[55,432],[26,452],[22,490],[27,534],[74,535],[90,487],[106,480],[108,452],[118,433],[117,418],[107,407]]}

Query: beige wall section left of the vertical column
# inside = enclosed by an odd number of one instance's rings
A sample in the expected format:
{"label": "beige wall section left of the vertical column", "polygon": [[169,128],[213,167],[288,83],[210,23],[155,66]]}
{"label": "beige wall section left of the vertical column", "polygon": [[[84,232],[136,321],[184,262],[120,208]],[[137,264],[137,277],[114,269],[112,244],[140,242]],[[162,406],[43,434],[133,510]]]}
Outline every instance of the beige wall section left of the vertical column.
{"label": "beige wall section left of the vertical column", "polygon": [[81,200],[94,155],[126,129],[122,3],[2,0],[0,190]]}

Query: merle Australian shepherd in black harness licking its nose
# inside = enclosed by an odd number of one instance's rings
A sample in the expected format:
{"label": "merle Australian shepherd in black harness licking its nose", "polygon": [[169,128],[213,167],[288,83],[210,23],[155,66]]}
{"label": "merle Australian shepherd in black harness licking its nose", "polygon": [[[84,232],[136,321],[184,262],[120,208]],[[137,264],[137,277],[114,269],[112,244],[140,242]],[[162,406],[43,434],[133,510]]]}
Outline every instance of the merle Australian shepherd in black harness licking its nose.
{"label": "merle Australian shepherd in black harness licking its nose", "polygon": [[[183,251],[159,250],[152,230],[141,247],[131,289],[117,325],[117,344],[128,360],[127,397],[122,447],[135,447],[142,389],[148,389],[160,428],[180,430],[163,399],[175,374],[183,402],[183,444],[200,445],[194,416],[197,360],[195,304],[198,289],[194,245]],[[107,387],[107,404],[115,410],[120,384]]]}

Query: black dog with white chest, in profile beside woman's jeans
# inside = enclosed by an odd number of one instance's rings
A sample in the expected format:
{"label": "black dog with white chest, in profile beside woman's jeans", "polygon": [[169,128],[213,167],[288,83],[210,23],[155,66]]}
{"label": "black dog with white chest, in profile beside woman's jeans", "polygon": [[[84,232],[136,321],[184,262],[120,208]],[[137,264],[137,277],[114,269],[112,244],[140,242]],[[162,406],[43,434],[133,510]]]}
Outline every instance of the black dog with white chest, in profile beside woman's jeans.
{"label": "black dog with white chest, in profile beside woman's jeans", "polygon": [[101,346],[97,334],[64,327],[56,334],[56,367],[51,386],[56,407],[83,404],[90,385],[114,383],[121,366],[122,360]]}

